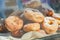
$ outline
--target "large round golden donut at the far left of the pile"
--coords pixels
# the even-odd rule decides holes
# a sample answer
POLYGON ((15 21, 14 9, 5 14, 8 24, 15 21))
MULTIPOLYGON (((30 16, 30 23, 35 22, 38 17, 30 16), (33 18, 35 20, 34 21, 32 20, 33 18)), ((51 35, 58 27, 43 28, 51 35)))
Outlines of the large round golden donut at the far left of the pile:
POLYGON ((5 20, 5 25, 9 31, 16 31, 22 28, 23 20, 18 18, 17 16, 9 16, 5 20))

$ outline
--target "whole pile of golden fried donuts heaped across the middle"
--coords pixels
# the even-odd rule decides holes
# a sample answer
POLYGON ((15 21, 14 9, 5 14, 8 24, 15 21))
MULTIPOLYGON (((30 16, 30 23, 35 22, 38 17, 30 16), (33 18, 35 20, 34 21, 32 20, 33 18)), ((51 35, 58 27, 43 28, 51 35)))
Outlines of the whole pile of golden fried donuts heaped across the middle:
POLYGON ((60 15, 58 14, 49 11, 47 14, 49 16, 44 16, 39 10, 32 8, 26 8, 22 14, 25 19, 18 16, 9 16, 5 19, 5 27, 14 37, 20 37, 31 31, 53 34, 59 29, 60 15), (24 24, 23 19, 30 22, 24 24))

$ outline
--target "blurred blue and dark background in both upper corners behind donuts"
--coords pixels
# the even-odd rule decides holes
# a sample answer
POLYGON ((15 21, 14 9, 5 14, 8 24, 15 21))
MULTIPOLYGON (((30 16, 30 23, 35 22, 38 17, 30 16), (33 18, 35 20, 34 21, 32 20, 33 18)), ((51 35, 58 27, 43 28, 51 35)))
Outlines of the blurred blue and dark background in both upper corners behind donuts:
MULTIPOLYGON (((6 18, 15 10, 23 9, 23 3, 30 0, 0 0, 0 17, 6 18)), ((60 12, 60 0, 40 0, 47 3, 55 12, 60 12)))

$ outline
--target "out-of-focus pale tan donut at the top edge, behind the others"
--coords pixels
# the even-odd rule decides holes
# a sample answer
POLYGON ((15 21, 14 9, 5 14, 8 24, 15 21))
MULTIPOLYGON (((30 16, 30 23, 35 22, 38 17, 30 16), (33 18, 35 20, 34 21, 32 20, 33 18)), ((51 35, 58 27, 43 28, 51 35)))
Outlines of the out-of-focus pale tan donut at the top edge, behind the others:
POLYGON ((37 8, 37 7, 41 6, 41 2, 39 0, 30 0, 24 4, 25 4, 25 7, 27 7, 27 8, 37 8))

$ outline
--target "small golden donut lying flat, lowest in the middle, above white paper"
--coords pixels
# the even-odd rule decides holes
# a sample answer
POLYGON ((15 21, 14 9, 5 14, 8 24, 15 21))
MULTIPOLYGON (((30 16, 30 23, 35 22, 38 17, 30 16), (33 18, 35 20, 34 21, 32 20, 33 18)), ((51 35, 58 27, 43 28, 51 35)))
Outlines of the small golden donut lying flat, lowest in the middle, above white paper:
POLYGON ((24 25, 23 30, 25 32, 30 32, 30 31, 37 31, 40 29, 40 24, 39 23, 29 23, 24 25))

